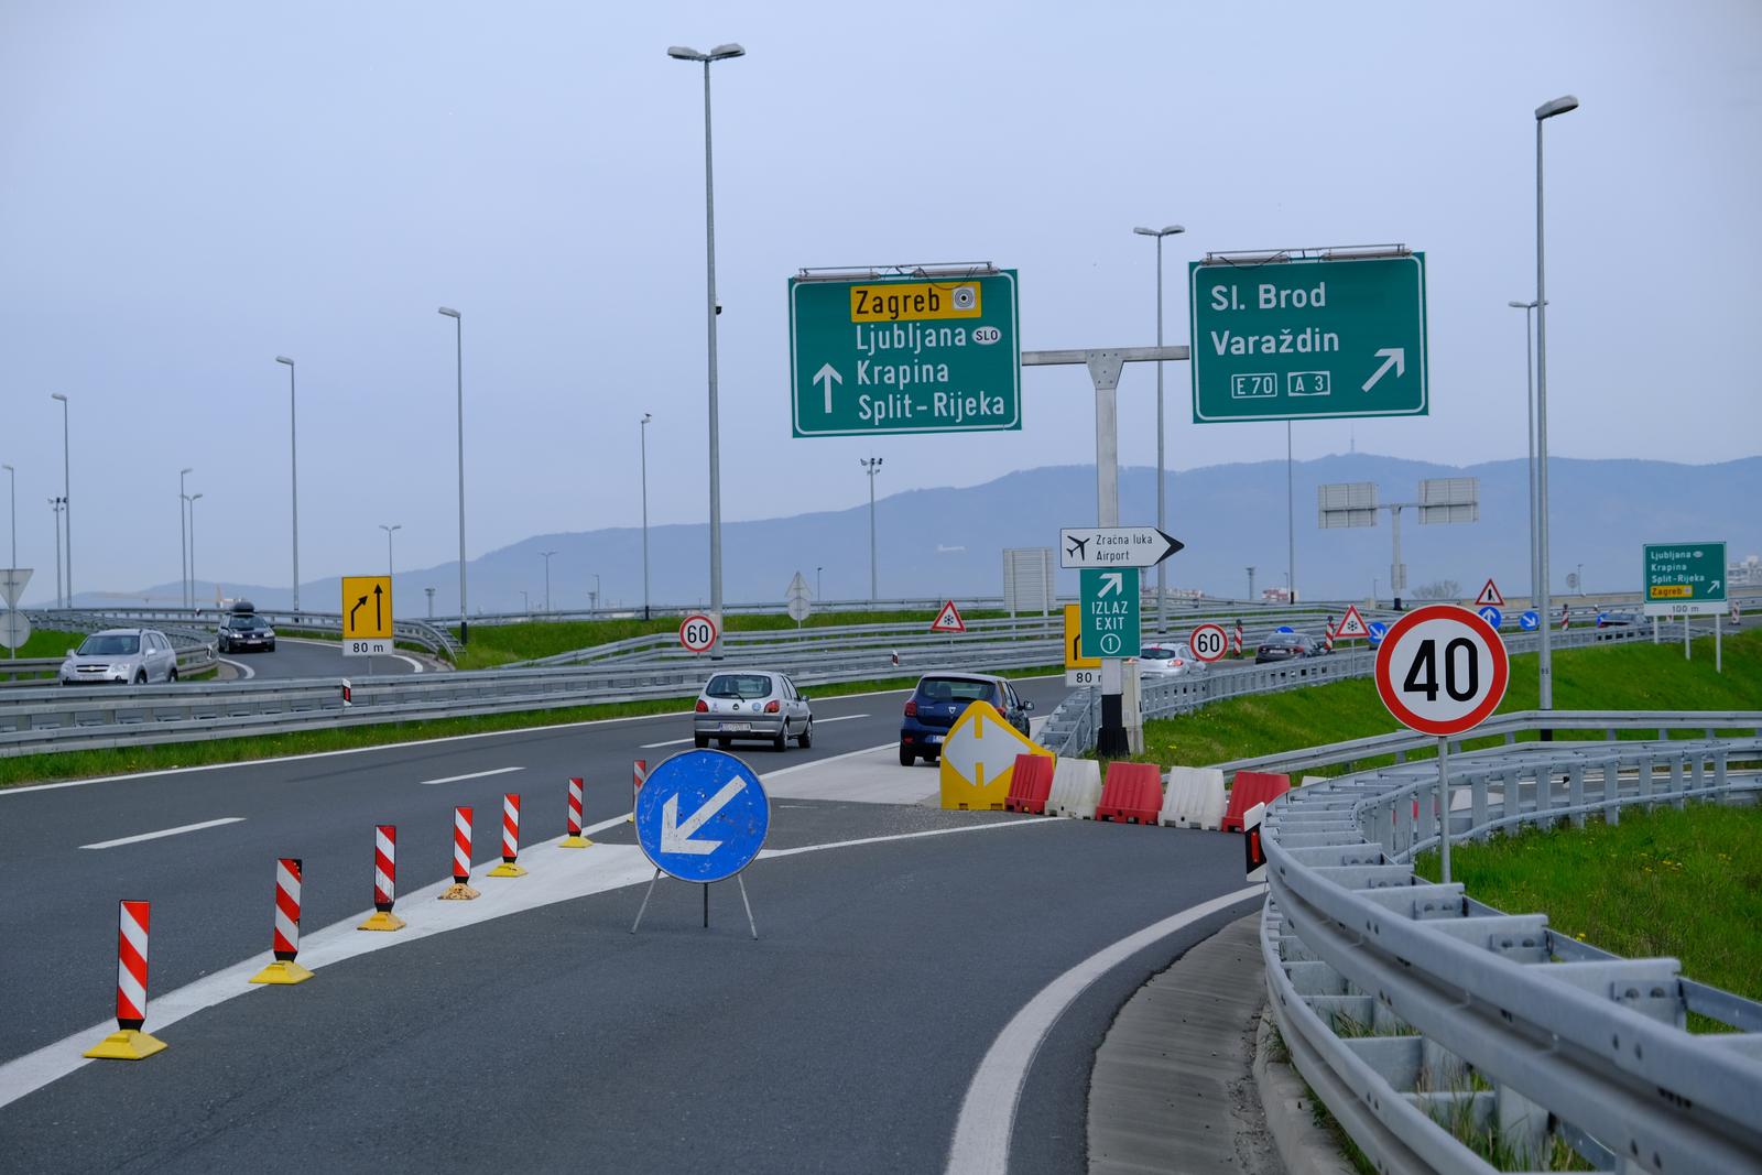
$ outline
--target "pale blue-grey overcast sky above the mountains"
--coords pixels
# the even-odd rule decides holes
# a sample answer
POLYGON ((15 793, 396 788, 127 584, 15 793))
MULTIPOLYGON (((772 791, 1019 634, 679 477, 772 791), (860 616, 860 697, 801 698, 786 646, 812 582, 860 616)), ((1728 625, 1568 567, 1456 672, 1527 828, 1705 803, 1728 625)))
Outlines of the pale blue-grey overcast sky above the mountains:
MULTIPOLYGON (((81 592, 707 516, 701 67, 714 69, 726 520, 1092 462, 1082 368, 1024 375, 1006 433, 793 440, 786 280, 803 266, 1020 271, 1024 349, 1188 340, 1207 250, 1427 254, 1429 418, 1307 423, 1297 454, 1524 453, 1535 122, 1547 125, 1552 451, 1758 451, 1762 5, 1658 4, 0 4, 0 462, 53 595, 70 398, 81 592), (749 7, 749 11, 737 11, 749 7)), ((1154 463, 1154 373, 1121 460, 1154 463)), ((1189 423, 1170 465, 1283 456, 1283 425, 1189 423)), ((1092 502, 1073 518, 1091 516, 1092 502)), ((1179 518, 1181 504, 1170 504, 1179 518)), ((1140 520, 1126 520, 1140 521, 1140 520)), ((1147 520, 1142 520, 1147 521, 1147 520)), ((1050 536, 1048 536, 1050 543, 1050 536)), ((0 558, 5 551, 0 548, 0 558)), ((48 585, 48 588, 46 588, 48 585)))

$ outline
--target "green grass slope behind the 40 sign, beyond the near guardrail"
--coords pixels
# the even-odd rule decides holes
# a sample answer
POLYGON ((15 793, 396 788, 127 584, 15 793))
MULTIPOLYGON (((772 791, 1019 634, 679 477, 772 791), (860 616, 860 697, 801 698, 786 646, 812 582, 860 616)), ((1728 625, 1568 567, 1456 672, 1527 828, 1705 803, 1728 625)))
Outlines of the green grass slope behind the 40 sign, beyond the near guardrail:
MULTIPOLYGON (((1336 657, 1346 654, 1334 654, 1336 657)), ((1359 654, 1364 655, 1362 652, 1359 654)), ((1512 680, 1499 712, 1535 710, 1536 655, 1512 657, 1512 680)), ((1610 645, 1554 654, 1556 710, 1757 710, 1762 708, 1762 629, 1725 639, 1725 673, 1713 671, 1713 641, 1610 645)), ((1144 763, 1205 766, 1279 750, 1297 750, 1399 729, 1369 678, 1283 694, 1232 698, 1177 719, 1144 724, 1144 763)), ((1693 731, 1699 735, 1699 731, 1693 731)), ((1646 736, 1646 735, 1635 735, 1646 736)), ((1656 735, 1651 735, 1656 736, 1656 735)), ((1498 742, 1498 740, 1489 740, 1498 742)), ((1477 743, 1470 742, 1470 747, 1477 743)), ((1425 752, 1410 752, 1422 757, 1425 752)), ((1392 759, 1383 759, 1392 761, 1392 759)), ((1357 770, 1376 766, 1366 759, 1357 770)), ((1346 766, 1322 772, 1343 773, 1346 766)))

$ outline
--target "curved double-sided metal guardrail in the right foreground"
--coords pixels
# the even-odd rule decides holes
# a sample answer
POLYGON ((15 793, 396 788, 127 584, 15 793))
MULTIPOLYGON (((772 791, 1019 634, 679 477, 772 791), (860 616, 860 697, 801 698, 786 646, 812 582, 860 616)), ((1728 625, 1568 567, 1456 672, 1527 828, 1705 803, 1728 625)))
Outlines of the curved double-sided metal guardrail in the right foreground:
MULTIPOLYGON (((1758 712, 1524 712, 1475 735, 1545 728, 1603 738, 1454 752, 1452 840, 1762 793, 1758 712), (1746 735, 1665 738, 1713 729, 1746 735)), ((1434 742, 1411 738, 1225 766, 1327 766, 1434 742)), ((1413 853, 1440 840, 1436 772, 1396 763, 1293 789, 1262 837, 1272 1009, 1353 1142, 1381 1171, 1494 1170, 1452 1124, 1496 1136, 1522 1170, 1559 1147, 1610 1171, 1762 1170, 1762 1002, 1683 978, 1672 958, 1619 958, 1545 914, 1415 877, 1413 853), (1688 1013, 1736 1031, 1690 1034, 1688 1013)))

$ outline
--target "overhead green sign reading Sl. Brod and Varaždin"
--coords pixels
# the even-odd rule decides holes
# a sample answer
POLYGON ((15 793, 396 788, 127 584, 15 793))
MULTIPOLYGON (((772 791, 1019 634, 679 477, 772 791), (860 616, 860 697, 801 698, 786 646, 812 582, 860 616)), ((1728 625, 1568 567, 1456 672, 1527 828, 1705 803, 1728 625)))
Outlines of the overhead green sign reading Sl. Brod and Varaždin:
POLYGON ((1424 416, 1425 254, 1195 261, 1193 423, 1424 416))

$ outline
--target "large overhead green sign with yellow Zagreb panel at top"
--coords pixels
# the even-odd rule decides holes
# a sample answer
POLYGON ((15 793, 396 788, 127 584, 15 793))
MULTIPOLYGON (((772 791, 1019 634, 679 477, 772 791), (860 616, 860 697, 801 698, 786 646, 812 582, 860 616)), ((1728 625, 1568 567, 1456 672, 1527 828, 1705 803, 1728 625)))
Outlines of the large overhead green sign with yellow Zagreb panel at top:
POLYGON ((1015 270, 789 278, 796 437, 1022 426, 1015 270))

